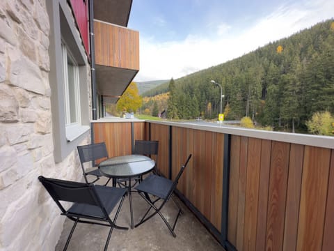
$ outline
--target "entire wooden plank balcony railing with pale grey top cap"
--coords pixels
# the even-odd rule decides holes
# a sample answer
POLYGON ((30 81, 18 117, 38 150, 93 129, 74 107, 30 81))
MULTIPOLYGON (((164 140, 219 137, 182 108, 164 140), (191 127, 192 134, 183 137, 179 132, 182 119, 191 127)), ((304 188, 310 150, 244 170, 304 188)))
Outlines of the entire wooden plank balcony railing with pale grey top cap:
POLYGON ((227 250, 333 250, 334 139, 181 123, 93 123, 109 154, 159 140, 158 169, 227 250))

